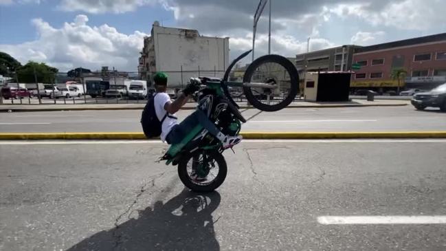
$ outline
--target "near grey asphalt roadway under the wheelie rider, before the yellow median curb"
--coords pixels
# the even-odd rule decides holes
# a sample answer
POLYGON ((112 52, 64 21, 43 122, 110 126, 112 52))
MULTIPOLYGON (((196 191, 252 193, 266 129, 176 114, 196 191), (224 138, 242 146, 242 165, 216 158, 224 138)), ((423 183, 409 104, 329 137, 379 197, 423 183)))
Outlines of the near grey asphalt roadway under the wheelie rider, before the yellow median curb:
POLYGON ((445 217, 446 140, 245 141, 205 195, 164 144, 91 143, 0 142, 0 250, 446 249, 446 221, 320 220, 445 217))

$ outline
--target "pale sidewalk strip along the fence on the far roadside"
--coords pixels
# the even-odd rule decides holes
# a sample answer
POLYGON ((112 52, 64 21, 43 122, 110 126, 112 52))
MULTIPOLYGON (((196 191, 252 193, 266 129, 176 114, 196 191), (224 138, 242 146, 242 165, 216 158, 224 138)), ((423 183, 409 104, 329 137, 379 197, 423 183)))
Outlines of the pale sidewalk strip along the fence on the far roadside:
MULTIPOLYGON (((246 102, 238 102, 240 109, 254 109, 246 102)), ((292 102, 287 108, 324 107, 392 107, 409 105, 408 100, 352 100, 351 102, 292 102)), ((82 111, 82 110, 140 110, 145 104, 78 104, 78 105, 0 105, 0 112, 8 111, 82 111)), ((197 103, 187 103, 182 109, 195 109, 197 103)))

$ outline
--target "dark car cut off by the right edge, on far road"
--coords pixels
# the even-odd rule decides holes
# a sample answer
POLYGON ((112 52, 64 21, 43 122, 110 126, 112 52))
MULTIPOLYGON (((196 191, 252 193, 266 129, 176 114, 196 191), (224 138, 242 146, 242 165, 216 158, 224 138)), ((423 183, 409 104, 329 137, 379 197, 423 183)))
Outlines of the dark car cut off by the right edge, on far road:
POLYGON ((441 111, 446 111, 446 83, 432 91, 415 94, 410 102, 418 110, 426 107, 440 107, 441 111))

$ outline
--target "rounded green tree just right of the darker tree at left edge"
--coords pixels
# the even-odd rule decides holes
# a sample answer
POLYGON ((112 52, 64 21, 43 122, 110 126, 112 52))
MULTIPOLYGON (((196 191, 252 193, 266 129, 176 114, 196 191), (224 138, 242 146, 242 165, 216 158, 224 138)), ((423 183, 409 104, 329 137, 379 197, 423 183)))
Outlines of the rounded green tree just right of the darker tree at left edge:
POLYGON ((45 63, 29 61, 17 70, 20 83, 36 83, 34 70, 38 83, 54 83, 58 69, 48 66, 45 63))

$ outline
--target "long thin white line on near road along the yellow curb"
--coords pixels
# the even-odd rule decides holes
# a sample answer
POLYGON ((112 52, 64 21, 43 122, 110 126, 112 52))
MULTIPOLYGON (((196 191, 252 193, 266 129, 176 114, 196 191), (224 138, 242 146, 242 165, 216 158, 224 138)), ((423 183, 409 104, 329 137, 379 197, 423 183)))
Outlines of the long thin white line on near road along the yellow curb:
MULTIPOLYGON (((242 143, 446 143, 446 139, 414 140, 243 140, 242 143)), ((168 144, 161 140, 0 140, 0 145, 24 144, 168 144)))

